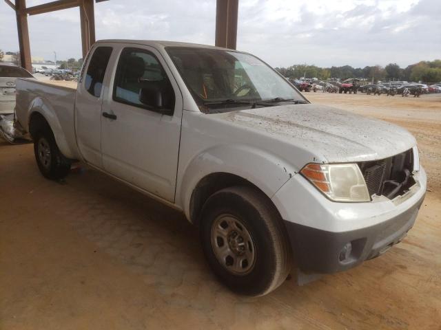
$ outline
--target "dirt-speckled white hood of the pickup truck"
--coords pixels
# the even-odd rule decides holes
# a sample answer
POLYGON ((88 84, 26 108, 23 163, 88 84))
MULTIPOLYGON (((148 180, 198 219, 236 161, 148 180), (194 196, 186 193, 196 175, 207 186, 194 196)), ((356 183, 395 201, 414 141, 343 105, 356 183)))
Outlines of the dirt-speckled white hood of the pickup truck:
POLYGON ((383 159, 416 144, 411 133, 400 126, 317 104, 263 107, 216 116, 297 146, 322 162, 383 159))

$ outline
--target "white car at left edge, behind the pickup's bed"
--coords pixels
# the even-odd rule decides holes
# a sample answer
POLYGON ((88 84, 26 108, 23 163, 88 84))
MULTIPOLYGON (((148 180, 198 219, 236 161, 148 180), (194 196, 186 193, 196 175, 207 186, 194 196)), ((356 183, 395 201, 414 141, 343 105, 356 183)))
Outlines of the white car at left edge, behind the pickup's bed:
POLYGON ((14 113, 15 80, 33 77, 22 67, 0 63, 0 114, 14 113))

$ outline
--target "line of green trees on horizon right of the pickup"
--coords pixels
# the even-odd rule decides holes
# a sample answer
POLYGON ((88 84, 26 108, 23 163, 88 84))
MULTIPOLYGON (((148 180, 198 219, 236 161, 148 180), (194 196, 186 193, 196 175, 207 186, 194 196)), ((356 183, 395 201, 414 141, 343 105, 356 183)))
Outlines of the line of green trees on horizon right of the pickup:
POLYGON ((438 83, 441 81, 441 60, 421 61, 416 64, 408 65, 405 68, 396 63, 389 63, 385 67, 381 65, 366 67, 317 67, 316 65, 291 65, 291 67, 276 67, 276 70, 287 78, 365 78, 367 80, 406 80, 424 81, 427 83, 438 83))

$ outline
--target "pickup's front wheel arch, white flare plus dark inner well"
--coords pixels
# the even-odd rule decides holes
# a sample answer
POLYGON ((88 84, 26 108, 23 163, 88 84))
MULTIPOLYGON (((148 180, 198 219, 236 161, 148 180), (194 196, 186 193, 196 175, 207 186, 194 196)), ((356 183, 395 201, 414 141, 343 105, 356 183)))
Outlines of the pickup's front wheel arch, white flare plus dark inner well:
POLYGON ((271 199, 293 175, 294 166, 274 153, 245 144, 213 146, 178 171, 175 200, 187 219, 197 223, 197 210, 210 192, 244 185, 257 188, 271 199))

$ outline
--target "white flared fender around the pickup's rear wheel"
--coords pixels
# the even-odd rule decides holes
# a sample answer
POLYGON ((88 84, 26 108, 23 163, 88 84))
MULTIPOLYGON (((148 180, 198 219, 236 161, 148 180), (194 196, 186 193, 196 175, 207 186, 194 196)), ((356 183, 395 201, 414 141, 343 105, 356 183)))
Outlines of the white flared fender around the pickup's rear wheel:
POLYGON ((29 118, 28 118, 28 131, 30 125, 30 118, 34 113, 40 113, 43 118, 48 122, 50 129, 54 133, 55 142, 57 142, 57 146, 59 147, 61 153, 70 159, 78 159, 79 155, 75 152, 76 148, 72 148, 66 139, 65 133, 61 124, 59 122, 59 118, 57 117, 52 105, 48 100, 45 100, 43 97, 38 96, 34 98, 32 102, 29 104, 29 118))

